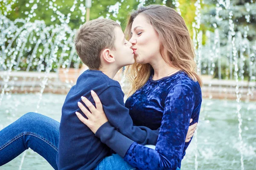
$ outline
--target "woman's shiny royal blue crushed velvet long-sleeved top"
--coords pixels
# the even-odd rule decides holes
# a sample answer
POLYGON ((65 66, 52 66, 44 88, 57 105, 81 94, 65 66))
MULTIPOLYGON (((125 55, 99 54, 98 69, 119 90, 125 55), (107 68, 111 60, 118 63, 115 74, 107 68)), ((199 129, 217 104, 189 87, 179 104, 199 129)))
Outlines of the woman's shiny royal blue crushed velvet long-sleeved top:
POLYGON ((156 149, 144 147, 123 136, 107 122, 96 132, 102 142, 141 170, 176 170, 190 142, 185 143, 190 118, 198 122, 202 95, 198 82, 179 71, 146 84, 130 96, 125 106, 137 126, 160 127, 156 149), (120 140, 111 141, 112 136, 120 140), (131 144, 128 150, 122 144, 131 144), (116 147, 119 146, 119 147, 116 147), (125 154, 123 154, 125 153, 125 154))

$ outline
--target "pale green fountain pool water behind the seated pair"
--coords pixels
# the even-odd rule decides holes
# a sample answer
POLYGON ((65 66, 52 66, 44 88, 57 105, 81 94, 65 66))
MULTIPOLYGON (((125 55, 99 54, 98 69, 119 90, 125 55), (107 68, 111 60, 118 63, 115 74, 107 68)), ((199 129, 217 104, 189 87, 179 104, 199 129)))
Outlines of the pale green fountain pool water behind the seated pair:
MULTIPOLYGON (((57 121, 65 95, 43 94, 38 113, 57 121)), ((5 96, 0 106, 0 130, 27 112, 37 110, 38 95, 12 94, 5 96)), ((256 102, 241 102, 242 141, 239 144, 236 101, 203 99, 197 135, 192 140, 181 163, 183 170, 239 170, 242 148, 244 169, 256 168, 256 102), (196 142, 197 141, 197 142, 196 142), (198 167, 197 167, 198 165, 198 167)), ((18 170, 23 154, 0 170, 18 170)), ((29 149, 22 170, 52 170, 53 168, 37 153, 29 149)))

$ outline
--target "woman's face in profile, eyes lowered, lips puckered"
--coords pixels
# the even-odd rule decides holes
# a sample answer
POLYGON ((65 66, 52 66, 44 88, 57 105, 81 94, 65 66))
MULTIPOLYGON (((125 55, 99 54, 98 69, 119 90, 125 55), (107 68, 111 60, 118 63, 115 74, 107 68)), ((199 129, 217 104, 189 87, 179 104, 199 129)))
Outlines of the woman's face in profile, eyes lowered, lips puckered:
POLYGON ((139 14, 131 27, 131 39, 134 57, 140 64, 152 63, 160 54, 160 40, 153 26, 143 14, 139 14))

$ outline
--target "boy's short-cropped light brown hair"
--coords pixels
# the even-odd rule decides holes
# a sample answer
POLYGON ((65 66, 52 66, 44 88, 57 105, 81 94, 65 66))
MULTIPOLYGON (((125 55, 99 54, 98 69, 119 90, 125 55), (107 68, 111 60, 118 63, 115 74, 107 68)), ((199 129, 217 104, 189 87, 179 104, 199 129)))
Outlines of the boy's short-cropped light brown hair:
POLYGON ((105 48, 115 48, 114 28, 120 27, 110 19, 96 19, 84 23, 76 33, 76 52, 81 61, 91 70, 98 70, 100 53, 105 48))

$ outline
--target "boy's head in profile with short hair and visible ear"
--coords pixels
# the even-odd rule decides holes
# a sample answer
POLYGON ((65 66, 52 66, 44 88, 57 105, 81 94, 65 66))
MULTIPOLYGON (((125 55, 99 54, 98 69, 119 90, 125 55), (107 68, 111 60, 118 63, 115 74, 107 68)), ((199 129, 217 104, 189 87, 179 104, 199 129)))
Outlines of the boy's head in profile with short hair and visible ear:
POLYGON ((134 63, 131 43, 113 20, 96 19, 83 24, 76 33, 75 46, 81 61, 92 70, 104 64, 121 68, 134 63))

